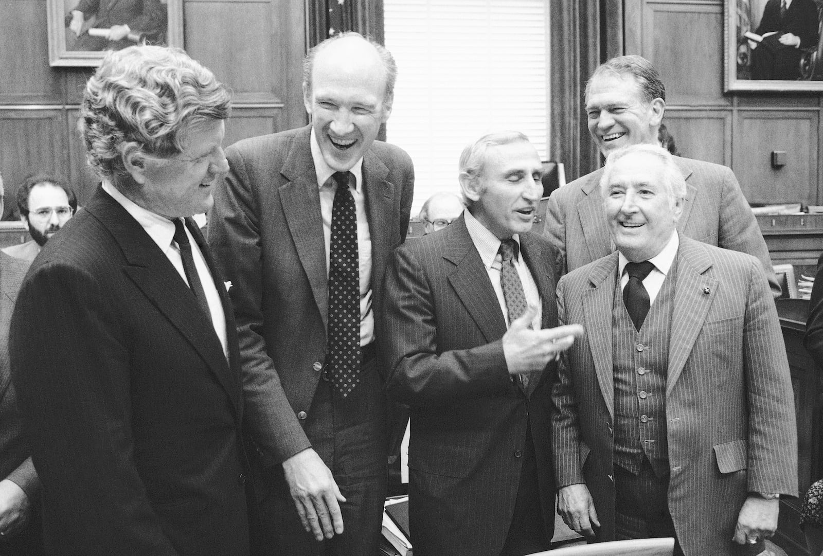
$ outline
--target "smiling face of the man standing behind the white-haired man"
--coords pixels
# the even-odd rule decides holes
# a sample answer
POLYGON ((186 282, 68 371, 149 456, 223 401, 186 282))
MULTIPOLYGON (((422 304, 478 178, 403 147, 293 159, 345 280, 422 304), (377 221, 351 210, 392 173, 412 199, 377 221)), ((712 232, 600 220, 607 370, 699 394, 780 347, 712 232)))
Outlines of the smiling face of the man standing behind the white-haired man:
POLYGON ((657 145, 664 109, 662 99, 644 100, 634 76, 603 73, 588 89, 588 132, 605 157, 621 146, 657 145))

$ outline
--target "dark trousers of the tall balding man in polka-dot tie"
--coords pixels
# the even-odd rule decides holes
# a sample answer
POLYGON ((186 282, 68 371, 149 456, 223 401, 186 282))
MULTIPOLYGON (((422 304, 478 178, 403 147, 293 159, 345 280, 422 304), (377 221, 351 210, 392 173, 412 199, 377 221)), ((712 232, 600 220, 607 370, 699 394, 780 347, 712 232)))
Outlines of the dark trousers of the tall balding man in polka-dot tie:
POLYGON ((346 498, 342 535, 314 540, 300 524, 282 466, 269 470, 269 493, 260 503, 266 556, 373 556, 379 554, 388 476, 386 403, 375 359, 360 369, 360 382, 346 396, 321 380, 305 422, 312 447, 332 470, 346 498))

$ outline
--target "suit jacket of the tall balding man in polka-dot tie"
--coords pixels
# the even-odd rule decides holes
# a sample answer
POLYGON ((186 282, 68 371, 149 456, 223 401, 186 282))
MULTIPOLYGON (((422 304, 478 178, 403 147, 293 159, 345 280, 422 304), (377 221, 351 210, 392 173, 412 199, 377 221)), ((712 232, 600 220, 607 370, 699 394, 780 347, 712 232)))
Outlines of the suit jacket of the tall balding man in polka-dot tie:
MULTIPOLYGON (((234 285, 246 406, 260 425, 255 439, 268 465, 309 447, 296 415, 309 411, 326 359, 328 273, 310 132, 292 129, 226 149, 230 172, 209 219, 209 244, 234 285)), ((365 153, 363 177, 376 317, 388 254, 406 238, 412 160, 375 141, 365 153)))

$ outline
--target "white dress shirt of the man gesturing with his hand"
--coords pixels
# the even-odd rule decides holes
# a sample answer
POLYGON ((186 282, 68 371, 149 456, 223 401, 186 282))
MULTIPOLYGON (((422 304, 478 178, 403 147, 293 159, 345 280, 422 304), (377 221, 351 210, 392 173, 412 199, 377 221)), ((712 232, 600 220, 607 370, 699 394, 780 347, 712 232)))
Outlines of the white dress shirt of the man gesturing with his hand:
MULTIPOLYGON (((503 317, 506 322, 506 329, 509 329, 509 308, 506 307, 506 299, 503 296, 503 285, 500 284, 500 269, 503 267, 503 259, 500 257, 500 239, 495 234, 492 234, 484 225, 477 221, 472 216, 472 213, 467 210, 463 211, 466 215, 466 229, 472 238, 474 247, 477 248, 477 253, 480 253, 480 258, 483 261, 483 266, 486 266, 486 272, 491 280, 491 285, 495 289, 497 295, 497 303, 500 303, 500 309, 503 311, 503 317)), ((514 234, 512 239, 520 245, 520 236, 514 234)), ((523 252, 518 249, 518 257, 514 259, 514 268, 517 269, 518 276, 520 276, 520 283, 523 284, 523 294, 526 295, 526 303, 537 308, 537 313, 532 319, 532 328, 540 330, 542 324, 543 306, 540 300, 540 290, 537 290, 537 284, 532 278, 532 272, 528 270, 528 265, 523 260, 523 252)))

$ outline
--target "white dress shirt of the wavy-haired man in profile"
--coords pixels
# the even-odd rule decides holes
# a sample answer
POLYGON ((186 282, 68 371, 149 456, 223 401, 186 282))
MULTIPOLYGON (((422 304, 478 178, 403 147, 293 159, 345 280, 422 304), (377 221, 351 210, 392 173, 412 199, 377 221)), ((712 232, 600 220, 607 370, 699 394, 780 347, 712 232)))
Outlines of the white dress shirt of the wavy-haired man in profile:
MULTIPOLYGON (((174 222, 165 216, 160 216, 154 212, 146 211, 146 209, 142 206, 138 206, 133 201, 128 199, 128 197, 125 197, 123 193, 119 192, 118 189, 109 183, 108 180, 103 180, 103 190, 109 193, 109 195, 114 198, 114 201, 119 202, 119 204, 126 209, 126 212, 132 215, 134 220, 137 220, 137 224, 141 225, 142 229, 146 230, 146 234, 149 234, 149 237, 157 243, 157 247, 159 247, 160 251, 168 257, 175 270, 177 270, 180 277, 183 278, 185 284, 188 285, 188 280, 186 280, 186 271, 183 268, 183 259, 180 257, 180 250, 177 243, 174 243, 174 240, 172 239, 174 237, 174 222)), ((186 229, 186 235, 188 235, 189 243, 192 244, 194 266, 198 270, 198 276, 200 276, 203 291, 206 293, 208 308, 212 313, 212 327, 214 327, 214 331, 223 346, 223 354, 225 354, 226 358, 228 358, 229 344, 226 339, 226 313, 223 311, 223 303, 220 301, 220 294, 217 293, 216 284, 212 278, 212 272, 208 270, 206 259, 203 258, 203 255, 200 252, 200 247, 197 242, 194 241, 194 238, 188 229, 186 229)))

